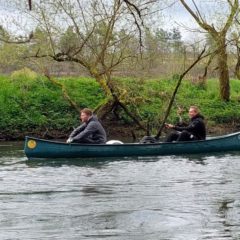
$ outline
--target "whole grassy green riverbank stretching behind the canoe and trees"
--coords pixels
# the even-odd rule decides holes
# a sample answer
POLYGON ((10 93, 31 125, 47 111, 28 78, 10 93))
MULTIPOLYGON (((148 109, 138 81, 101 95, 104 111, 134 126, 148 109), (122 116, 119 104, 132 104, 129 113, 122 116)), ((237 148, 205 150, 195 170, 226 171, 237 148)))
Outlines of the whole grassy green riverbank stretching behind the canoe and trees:
MULTIPOLYGON (((106 99, 99 85, 91 78, 61 78, 68 95, 79 108, 95 108, 106 99)), ((144 124, 157 131, 176 79, 115 79, 114 86, 121 100, 144 124)), ((18 72, 0 77, 0 138, 21 139, 26 134, 43 137, 65 137, 72 127, 79 124, 78 114, 63 97, 59 86, 35 73, 18 72)), ((183 81, 168 122, 176 122, 178 106, 186 110, 189 105, 198 105, 206 116, 208 128, 213 126, 233 127, 240 125, 240 81, 231 80, 231 101, 219 99, 218 81, 209 79, 206 85, 183 81)), ((121 114, 121 113, 120 113, 121 114)), ((108 122, 109 123, 109 122, 108 122)), ((108 123, 103 123, 108 127, 108 123)), ((118 123, 132 125, 127 116, 118 123)), ((117 124, 117 125, 116 125, 117 124)))

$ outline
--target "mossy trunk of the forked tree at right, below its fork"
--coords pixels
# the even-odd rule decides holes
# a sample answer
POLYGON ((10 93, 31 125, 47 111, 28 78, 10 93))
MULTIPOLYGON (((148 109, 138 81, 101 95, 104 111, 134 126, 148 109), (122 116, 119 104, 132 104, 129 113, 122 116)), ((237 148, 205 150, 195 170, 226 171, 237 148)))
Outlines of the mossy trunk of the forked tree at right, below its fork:
POLYGON ((219 85, 220 85, 220 97, 224 101, 229 101, 230 98, 230 84, 229 84, 229 71, 227 64, 227 49, 224 41, 219 44, 219 51, 217 55, 218 69, 219 69, 219 85))

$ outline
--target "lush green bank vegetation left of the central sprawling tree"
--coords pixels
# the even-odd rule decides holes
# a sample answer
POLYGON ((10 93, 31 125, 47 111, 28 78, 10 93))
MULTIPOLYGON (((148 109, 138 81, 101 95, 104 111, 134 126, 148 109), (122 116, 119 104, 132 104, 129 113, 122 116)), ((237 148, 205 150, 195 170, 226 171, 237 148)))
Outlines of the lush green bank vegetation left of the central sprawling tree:
MULTIPOLYGON (((79 104, 86 96, 80 107, 96 107, 102 100, 99 86, 96 86, 92 79, 74 80, 60 79, 59 81, 72 86, 68 90, 76 97, 79 104), (79 88, 82 84, 85 84, 86 88, 79 88)), ((63 98, 61 88, 35 75, 34 72, 21 70, 12 74, 11 78, 0 77, 0 83, 2 131, 14 133, 15 130, 67 130, 79 124, 78 113, 63 98)))

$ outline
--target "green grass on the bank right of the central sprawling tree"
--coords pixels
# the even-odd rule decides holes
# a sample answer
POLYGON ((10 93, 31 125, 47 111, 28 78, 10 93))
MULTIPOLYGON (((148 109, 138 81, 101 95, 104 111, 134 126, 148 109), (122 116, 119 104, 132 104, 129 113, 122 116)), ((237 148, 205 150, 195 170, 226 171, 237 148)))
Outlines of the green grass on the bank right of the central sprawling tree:
MULTIPOLYGON (((150 127, 156 131, 164 117, 177 80, 177 76, 169 80, 152 79, 145 80, 142 83, 136 79, 121 79, 121 84, 122 88, 126 90, 125 97, 129 99, 129 109, 138 113, 140 118, 145 123, 149 122, 150 127), (142 101, 136 104, 134 101, 136 98, 141 98, 142 101)), ((240 81, 231 80, 230 83, 232 100, 224 102, 219 98, 218 81, 216 79, 209 79, 204 88, 184 80, 177 93, 168 121, 178 122, 177 109, 179 106, 184 108, 185 112, 182 117, 187 121, 189 106, 197 105, 205 116, 209 127, 216 124, 239 124, 240 81)))

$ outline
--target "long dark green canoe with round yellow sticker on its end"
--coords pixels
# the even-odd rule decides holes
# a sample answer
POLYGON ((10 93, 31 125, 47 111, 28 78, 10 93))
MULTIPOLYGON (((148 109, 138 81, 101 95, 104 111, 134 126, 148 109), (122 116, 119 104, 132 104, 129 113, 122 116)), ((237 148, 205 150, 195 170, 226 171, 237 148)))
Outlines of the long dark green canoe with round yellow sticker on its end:
POLYGON ((240 151, 240 132, 207 140, 173 143, 77 144, 25 138, 28 159, 161 156, 240 151))

